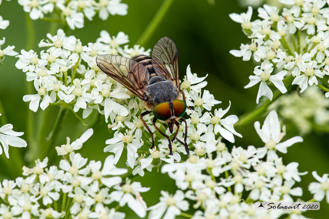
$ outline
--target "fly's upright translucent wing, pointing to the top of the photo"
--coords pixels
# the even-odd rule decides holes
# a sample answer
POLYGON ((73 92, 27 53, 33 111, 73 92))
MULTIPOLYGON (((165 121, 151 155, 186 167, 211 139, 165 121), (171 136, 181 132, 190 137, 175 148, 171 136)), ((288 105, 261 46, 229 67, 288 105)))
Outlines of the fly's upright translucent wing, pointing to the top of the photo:
POLYGON ((152 51, 152 66, 158 76, 172 81, 178 88, 178 52, 174 41, 169 37, 161 38, 152 51))

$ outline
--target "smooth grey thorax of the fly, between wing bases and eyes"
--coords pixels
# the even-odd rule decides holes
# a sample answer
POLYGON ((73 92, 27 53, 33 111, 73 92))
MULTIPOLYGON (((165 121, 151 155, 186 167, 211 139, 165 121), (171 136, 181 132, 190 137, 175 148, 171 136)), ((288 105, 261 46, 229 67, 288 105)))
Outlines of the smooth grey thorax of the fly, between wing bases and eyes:
POLYGON ((178 93, 176 87, 170 81, 159 81, 147 86, 149 101, 155 106, 177 99, 178 93))

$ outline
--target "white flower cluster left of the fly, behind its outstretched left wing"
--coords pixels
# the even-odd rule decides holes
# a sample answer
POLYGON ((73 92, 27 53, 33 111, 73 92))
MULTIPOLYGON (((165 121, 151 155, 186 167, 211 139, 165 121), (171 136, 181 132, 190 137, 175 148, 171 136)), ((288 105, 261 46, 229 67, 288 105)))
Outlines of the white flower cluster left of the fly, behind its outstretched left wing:
POLYGON ((30 102, 32 111, 36 112, 39 106, 44 110, 54 104, 74 112, 83 109, 83 118, 87 118, 95 109, 105 115, 106 121, 110 117, 112 123, 116 116, 128 115, 130 105, 134 104, 130 101, 132 93, 98 68, 96 56, 120 54, 132 57, 149 55, 150 50, 145 51, 139 45, 122 47, 129 42, 123 32, 111 37, 108 32, 101 31, 96 42, 87 46, 75 36, 66 36, 62 29, 57 35, 47 34, 47 37, 49 39, 38 44, 40 48, 46 48, 40 55, 33 50, 21 50, 17 56, 16 67, 26 73, 26 80, 33 81, 37 91, 37 94, 23 97, 24 101, 30 102))

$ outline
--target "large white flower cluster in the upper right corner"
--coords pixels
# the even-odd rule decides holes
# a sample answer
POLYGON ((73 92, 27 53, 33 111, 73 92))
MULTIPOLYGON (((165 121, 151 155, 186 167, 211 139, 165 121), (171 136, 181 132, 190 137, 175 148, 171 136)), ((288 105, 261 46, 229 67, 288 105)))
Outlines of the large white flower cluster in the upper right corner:
POLYGON ((324 83, 322 78, 329 75, 329 8, 326 1, 279 2, 291 8, 283 8, 279 13, 278 8, 264 5, 257 9, 261 19, 254 21, 251 21, 251 7, 246 13, 230 14, 251 39, 250 44, 241 44, 240 50, 231 50, 230 53, 244 61, 252 56, 256 62, 261 62, 245 86, 249 88, 260 82, 257 103, 262 96, 272 100, 271 85, 281 93, 290 90, 291 85, 298 85, 302 93, 314 84, 329 91, 328 84, 321 85, 324 83))

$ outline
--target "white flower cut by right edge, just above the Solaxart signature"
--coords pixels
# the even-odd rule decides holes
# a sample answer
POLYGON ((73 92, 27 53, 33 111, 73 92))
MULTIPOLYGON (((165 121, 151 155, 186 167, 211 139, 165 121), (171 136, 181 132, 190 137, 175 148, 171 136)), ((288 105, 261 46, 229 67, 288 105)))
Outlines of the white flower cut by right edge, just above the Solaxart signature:
POLYGON ((326 201, 329 204, 329 174, 326 173, 320 177, 316 171, 313 171, 312 175, 318 181, 318 183, 310 183, 308 187, 311 194, 314 194, 314 200, 320 202, 323 200, 324 196, 326 196, 326 201))

